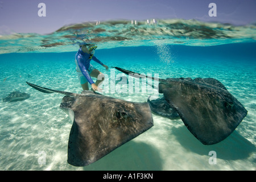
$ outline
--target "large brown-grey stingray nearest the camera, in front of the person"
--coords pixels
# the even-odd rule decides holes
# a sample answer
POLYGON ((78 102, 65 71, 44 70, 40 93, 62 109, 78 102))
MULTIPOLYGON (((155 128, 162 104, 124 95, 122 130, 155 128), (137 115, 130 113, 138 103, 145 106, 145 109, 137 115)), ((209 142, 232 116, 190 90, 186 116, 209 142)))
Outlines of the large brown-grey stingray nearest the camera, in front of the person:
POLYGON ((149 105, 103 96, 51 90, 27 82, 44 93, 65 94, 60 108, 73 125, 68 141, 68 163, 87 166, 153 126, 149 105))

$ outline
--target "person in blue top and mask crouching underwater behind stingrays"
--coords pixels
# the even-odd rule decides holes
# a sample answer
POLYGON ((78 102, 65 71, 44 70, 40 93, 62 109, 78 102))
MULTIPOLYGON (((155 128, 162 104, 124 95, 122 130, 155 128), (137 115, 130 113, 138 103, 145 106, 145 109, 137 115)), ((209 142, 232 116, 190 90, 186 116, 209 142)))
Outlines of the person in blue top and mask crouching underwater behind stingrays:
POLYGON ((94 91, 101 91, 101 89, 98 88, 98 85, 102 81, 104 81, 104 74, 98 71, 98 69, 94 68, 93 65, 90 64, 90 60, 94 60, 96 61, 96 63, 101 64, 103 67, 106 68, 107 71, 109 69, 107 65, 101 63, 101 61, 94 56, 96 48, 97 46, 95 44, 84 43, 80 44, 80 48, 76 53, 76 72, 77 76, 79 77, 82 89, 84 90, 89 90, 89 82, 89 84, 92 85, 92 89, 94 91), (95 83, 93 82, 92 77, 97 78, 97 81, 95 83))

